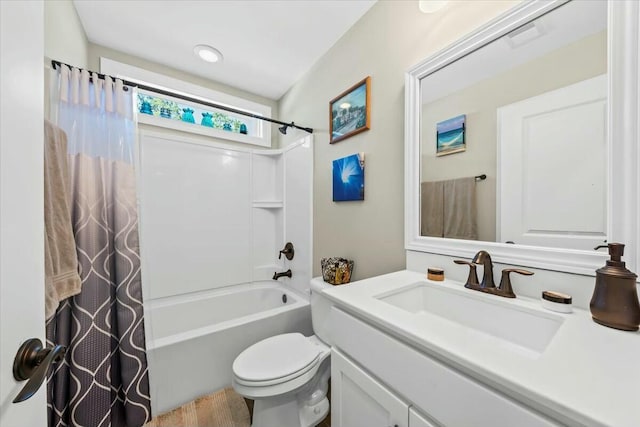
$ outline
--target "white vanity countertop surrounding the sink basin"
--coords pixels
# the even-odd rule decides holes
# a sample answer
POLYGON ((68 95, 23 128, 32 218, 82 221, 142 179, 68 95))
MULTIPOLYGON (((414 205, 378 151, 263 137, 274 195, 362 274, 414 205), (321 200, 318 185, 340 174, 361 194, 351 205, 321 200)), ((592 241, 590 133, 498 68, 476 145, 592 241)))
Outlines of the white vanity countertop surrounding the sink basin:
POLYGON ((555 313, 534 299, 509 300, 454 281, 428 281, 424 274, 408 270, 338 286, 325 294, 346 311, 542 413, 560 420, 568 417, 576 425, 640 426, 640 333, 598 325, 588 311, 555 313), (463 324, 430 313, 416 315, 376 298, 416 282, 558 316, 562 325, 541 353, 517 351, 517 346, 503 345, 463 324))

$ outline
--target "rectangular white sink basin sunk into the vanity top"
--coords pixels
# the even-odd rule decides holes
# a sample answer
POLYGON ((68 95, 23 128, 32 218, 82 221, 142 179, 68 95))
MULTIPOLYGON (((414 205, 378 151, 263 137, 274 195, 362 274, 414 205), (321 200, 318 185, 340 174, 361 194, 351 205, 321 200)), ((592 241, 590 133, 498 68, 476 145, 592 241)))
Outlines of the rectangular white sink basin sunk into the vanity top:
POLYGON ((476 293, 464 288, 454 290, 417 282, 375 298, 416 316, 444 318, 525 347, 538 355, 544 352, 562 325, 561 316, 493 301, 500 297, 476 293))

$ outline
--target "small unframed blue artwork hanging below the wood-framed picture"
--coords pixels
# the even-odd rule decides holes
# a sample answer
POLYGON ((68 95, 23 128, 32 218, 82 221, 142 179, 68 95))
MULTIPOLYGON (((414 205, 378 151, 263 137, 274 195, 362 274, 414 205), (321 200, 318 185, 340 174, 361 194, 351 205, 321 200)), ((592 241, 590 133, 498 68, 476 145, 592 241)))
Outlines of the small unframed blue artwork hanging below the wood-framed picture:
POLYGON ((333 201, 364 200, 364 153, 333 161, 333 201))

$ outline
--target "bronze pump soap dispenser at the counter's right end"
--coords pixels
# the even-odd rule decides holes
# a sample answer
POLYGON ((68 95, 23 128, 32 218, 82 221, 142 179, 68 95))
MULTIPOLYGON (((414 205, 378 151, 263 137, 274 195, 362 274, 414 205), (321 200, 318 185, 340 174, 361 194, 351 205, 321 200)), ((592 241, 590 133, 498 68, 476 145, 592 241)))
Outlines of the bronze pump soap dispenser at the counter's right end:
POLYGON ((640 325, 640 303, 636 274, 627 270, 622 261, 624 244, 609 243, 595 249, 609 248, 611 259, 596 270, 596 287, 591 297, 593 320, 610 328, 637 331, 640 325))

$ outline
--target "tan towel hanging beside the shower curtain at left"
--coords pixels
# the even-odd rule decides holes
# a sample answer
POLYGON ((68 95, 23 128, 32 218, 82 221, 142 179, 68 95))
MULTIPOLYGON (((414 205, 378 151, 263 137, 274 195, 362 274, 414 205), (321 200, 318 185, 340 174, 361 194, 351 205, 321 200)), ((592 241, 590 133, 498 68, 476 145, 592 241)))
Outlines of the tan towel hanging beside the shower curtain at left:
POLYGON ((67 135, 44 123, 44 270, 45 315, 53 316, 60 301, 80 293, 76 242, 69 207, 67 135))

